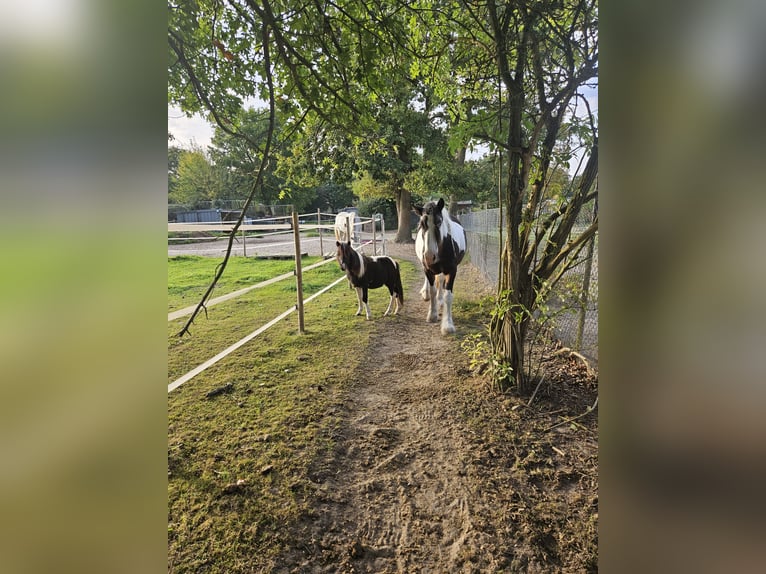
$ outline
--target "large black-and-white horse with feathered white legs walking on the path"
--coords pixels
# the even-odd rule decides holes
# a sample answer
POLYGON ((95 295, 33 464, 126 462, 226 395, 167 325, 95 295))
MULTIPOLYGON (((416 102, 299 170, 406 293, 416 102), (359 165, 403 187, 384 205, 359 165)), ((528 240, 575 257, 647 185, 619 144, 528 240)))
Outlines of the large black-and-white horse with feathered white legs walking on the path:
POLYGON ((426 320, 436 323, 439 320, 437 312, 438 304, 442 308, 442 335, 455 332, 455 324, 452 322, 452 286, 455 284, 457 266, 465 255, 465 230, 463 226, 453 218, 444 206, 444 199, 438 202, 429 201, 423 207, 413 207, 413 211, 420 216, 418 232, 415 237, 415 254, 423 264, 426 280, 420 294, 425 301, 430 301, 426 320), (436 276, 442 274, 442 285, 439 285, 439 294, 434 286, 436 276))

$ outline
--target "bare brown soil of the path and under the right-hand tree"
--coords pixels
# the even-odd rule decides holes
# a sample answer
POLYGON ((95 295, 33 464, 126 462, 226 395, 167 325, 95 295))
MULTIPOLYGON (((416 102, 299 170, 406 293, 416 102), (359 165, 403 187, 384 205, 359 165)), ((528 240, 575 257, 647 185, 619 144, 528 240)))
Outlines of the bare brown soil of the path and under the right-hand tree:
MULTIPOLYGON (((414 249, 391 242, 389 255, 414 249)), ((567 422, 594 404, 596 378, 553 347, 530 407, 492 391, 460 350, 477 325, 456 306, 458 333, 440 335, 421 282, 405 285, 412 320, 378 322, 336 397, 335 450, 314 465, 310 510, 273 571, 596 571, 598 411, 567 422)), ((457 304, 490 289, 464 265, 455 291, 457 304)))

